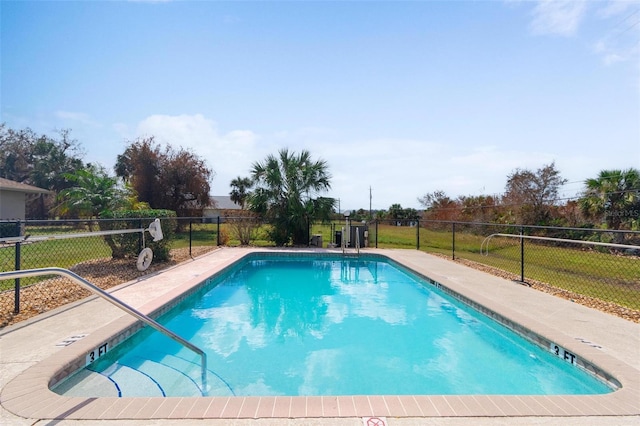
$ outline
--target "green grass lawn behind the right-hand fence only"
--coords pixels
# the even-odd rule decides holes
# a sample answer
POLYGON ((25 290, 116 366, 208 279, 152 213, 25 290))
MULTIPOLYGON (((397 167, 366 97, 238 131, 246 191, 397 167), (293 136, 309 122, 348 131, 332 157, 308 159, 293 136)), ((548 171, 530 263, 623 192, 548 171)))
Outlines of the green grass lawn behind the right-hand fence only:
MULTIPOLYGON (((420 250, 452 256, 452 232, 420 229, 420 250)), ((456 232, 455 257, 520 276, 520 240, 494 237, 480 253, 484 235, 456 232)), ((378 247, 415 248, 415 228, 378 226, 378 247)), ((585 296, 640 310, 640 260, 595 250, 526 240, 524 277, 585 296)))

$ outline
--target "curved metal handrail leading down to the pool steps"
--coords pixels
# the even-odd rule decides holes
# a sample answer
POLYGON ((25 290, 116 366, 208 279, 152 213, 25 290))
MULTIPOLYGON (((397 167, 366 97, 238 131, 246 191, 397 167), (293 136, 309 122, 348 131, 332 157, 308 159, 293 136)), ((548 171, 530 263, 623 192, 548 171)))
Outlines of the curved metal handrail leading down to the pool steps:
POLYGON ((106 301, 117 306, 118 308, 122 309, 128 314, 133 315, 135 318, 147 324, 148 326, 153 327, 154 329, 164 334, 165 336, 175 340, 176 342, 182 344, 186 348, 200 355, 200 367, 202 369, 202 373, 201 373, 202 389, 204 392, 207 391, 207 354, 202 349, 200 349, 193 343, 189 342, 188 340, 185 340, 182 337, 178 336, 173 331, 167 329, 157 321, 143 314, 142 312, 127 305, 122 300, 117 299, 116 297, 112 296, 111 294, 107 293, 106 291, 102 290, 96 285, 85 280, 80 275, 68 269, 49 267, 49 268, 39 268, 39 269, 23 269, 20 271, 0 272, 0 281, 8 280, 11 278, 35 277, 35 276, 42 276, 42 275, 60 275, 60 276, 71 279, 72 281, 76 282, 77 284, 80 284, 82 287, 86 288, 87 290, 97 294, 98 296, 102 297, 106 301))

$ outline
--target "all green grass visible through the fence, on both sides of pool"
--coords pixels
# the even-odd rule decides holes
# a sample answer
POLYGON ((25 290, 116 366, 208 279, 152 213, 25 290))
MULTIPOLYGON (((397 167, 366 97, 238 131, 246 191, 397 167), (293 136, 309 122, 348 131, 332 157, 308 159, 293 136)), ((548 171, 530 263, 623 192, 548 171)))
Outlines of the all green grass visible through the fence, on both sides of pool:
MULTIPOLYGON (((238 246, 232 224, 222 224, 221 242, 228 246, 238 246)), ((334 239, 334 232, 340 231, 344 223, 315 224, 311 234, 322 235, 326 246, 334 239)), ((267 227, 255 230, 252 245, 272 246, 267 240, 267 227)), ((61 234, 60 228, 37 229, 37 234, 61 234), (48 231, 48 232, 45 232, 48 231)), ((69 232, 79 232, 69 228, 69 232)), ((84 231, 84 230, 81 230, 84 231)), ((435 231, 425 228, 392 226, 379 224, 369 229, 369 244, 379 248, 415 249, 417 233, 420 250, 452 256, 453 234, 451 231, 435 231), (376 235, 377 234, 377 235, 376 235)), ((171 248, 217 245, 217 225, 195 223, 189 229, 175 234, 171 248)), ((455 257, 499 268, 520 276, 520 242, 514 238, 494 237, 488 255, 480 253, 485 235, 456 232, 455 257)), ((525 241, 525 280, 536 280, 554 287, 570 290, 586 296, 613 302, 631 309, 640 310, 640 261, 629 256, 618 256, 593 250, 541 245, 525 241)), ((84 237, 65 240, 49 240, 24 243, 21 249, 21 269, 58 266, 70 268, 91 259, 111 256, 111 251, 102 237, 84 237)), ((14 246, 0 247, 0 270, 15 269, 14 246)), ((0 290, 12 288, 13 281, 0 281, 0 290)))

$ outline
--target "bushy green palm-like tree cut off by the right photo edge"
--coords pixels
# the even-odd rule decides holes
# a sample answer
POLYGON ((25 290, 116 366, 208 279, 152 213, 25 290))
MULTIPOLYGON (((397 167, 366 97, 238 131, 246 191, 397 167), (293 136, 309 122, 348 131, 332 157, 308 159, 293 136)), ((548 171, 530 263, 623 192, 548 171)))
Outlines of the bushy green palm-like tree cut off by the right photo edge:
POLYGON ((580 208, 586 217, 604 221, 608 229, 640 225, 640 170, 602 170, 587 179, 580 208))

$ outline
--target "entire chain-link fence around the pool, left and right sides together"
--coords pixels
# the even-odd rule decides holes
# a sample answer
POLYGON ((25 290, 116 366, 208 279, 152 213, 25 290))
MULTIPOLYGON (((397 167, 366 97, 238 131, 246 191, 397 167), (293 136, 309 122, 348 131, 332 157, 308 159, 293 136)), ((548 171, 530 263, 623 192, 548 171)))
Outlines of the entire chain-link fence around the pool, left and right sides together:
MULTIPOLYGON (((272 245, 268 225, 255 217, 171 221, 170 256, 144 271, 136 256, 152 244, 142 232, 150 219, 0 222, 0 271, 62 267, 107 289, 218 246, 272 245), (105 230, 134 231, 97 234, 105 230), (124 239, 130 254, 114 256, 114 241, 124 239)), ((340 247, 346 225, 310 224, 310 245, 340 247)), ((640 232, 417 220, 350 225, 366 230, 363 248, 423 250, 640 322, 640 232)), ((57 276, 0 281, 0 328, 87 295, 57 276)))

